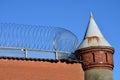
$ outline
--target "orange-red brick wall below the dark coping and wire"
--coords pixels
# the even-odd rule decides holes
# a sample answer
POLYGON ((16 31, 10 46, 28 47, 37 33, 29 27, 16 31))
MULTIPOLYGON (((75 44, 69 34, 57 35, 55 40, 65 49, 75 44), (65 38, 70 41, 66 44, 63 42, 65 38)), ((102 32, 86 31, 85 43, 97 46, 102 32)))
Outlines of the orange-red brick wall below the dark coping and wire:
POLYGON ((84 80, 79 63, 0 59, 0 80, 84 80))

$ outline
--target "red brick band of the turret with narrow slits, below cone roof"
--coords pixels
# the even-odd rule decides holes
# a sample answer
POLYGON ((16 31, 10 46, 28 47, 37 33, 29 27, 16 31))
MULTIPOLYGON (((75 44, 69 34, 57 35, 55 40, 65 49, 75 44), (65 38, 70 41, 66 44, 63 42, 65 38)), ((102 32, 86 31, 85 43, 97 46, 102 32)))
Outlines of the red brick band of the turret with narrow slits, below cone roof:
POLYGON ((114 49, 106 46, 92 46, 76 51, 76 57, 83 60, 83 69, 103 68, 112 70, 114 49))

